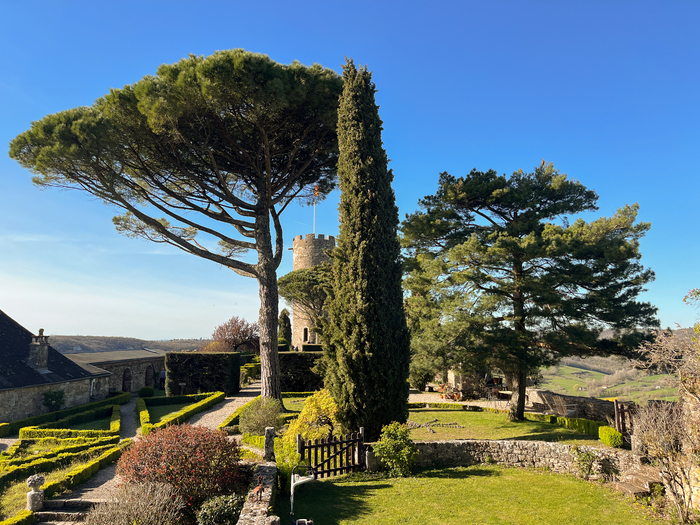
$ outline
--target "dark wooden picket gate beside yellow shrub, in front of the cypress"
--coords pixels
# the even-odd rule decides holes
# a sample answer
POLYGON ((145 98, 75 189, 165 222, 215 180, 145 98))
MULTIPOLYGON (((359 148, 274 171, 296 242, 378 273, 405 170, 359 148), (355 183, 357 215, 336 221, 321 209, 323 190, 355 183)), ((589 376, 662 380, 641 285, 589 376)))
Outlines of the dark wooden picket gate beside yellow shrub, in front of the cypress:
POLYGON ((325 478, 357 472, 365 467, 365 430, 347 434, 345 437, 333 436, 328 439, 305 441, 297 434, 297 452, 302 462, 309 461, 316 477, 325 478))

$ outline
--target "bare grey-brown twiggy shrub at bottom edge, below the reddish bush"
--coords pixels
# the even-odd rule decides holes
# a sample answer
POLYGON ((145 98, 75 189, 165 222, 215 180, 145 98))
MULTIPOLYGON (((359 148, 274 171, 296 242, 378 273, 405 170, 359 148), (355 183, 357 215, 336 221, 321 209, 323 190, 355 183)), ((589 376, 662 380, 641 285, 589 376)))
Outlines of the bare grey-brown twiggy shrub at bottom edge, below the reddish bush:
POLYGON ((164 483, 127 483, 111 501, 93 507, 86 525, 172 525, 180 523, 185 503, 176 490, 164 483))

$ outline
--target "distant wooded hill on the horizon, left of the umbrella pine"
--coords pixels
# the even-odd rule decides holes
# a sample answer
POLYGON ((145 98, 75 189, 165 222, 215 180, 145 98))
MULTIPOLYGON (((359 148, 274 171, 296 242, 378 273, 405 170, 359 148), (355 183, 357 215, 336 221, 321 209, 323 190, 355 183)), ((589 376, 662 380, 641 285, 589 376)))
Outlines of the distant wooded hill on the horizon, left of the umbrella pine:
POLYGON ((148 341, 133 337, 103 337, 95 335, 51 335, 49 342, 62 354, 82 352, 111 352, 116 350, 140 350, 152 348, 168 352, 195 350, 205 346, 209 339, 172 339, 170 341, 148 341))

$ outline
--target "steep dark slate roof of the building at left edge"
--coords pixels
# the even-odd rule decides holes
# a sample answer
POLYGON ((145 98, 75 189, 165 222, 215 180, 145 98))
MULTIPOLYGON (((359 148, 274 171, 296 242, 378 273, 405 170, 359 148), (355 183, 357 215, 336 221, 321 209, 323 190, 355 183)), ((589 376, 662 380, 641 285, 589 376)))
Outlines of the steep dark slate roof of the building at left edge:
POLYGON ((32 333, 0 310, 0 390, 95 377, 51 346, 49 372, 38 371, 27 361, 31 342, 32 333))

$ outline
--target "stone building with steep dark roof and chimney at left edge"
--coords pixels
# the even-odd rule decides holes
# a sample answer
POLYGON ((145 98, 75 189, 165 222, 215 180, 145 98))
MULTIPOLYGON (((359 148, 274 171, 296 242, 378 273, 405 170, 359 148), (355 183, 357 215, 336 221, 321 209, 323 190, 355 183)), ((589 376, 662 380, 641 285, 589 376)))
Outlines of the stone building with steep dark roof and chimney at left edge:
POLYGON ((105 370, 90 372, 0 310, 0 423, 47 412, 44 392, 63 390, 64 408, 106 397, 105 370))

